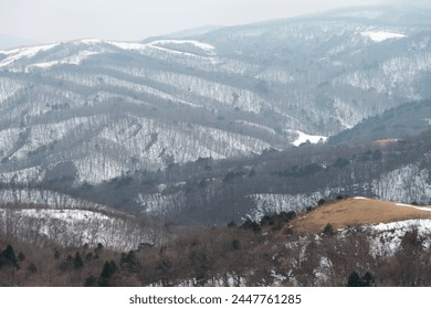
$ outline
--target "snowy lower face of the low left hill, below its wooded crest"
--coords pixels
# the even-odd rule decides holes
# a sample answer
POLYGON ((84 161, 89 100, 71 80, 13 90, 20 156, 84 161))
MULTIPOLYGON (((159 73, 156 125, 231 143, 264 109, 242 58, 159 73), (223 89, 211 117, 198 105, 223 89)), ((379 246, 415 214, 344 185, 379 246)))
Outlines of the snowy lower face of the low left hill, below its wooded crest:
POLYGON ((0 207, 0 233, 35 245, 90 245, 114 251, 137 249, 140 244, 159 244, 162 231, 153 224, 140 224, 127 216, 75 209, 10 209, 0 207))

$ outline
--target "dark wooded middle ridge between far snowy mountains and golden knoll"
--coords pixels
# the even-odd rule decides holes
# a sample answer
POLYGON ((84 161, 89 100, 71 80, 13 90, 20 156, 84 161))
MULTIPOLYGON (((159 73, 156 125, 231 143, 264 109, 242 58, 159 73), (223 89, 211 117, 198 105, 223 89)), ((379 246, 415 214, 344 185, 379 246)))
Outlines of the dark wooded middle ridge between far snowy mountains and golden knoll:
POLYGON ((75 189, 60 180, 41 185, 135 213, 208 225, 301 212, 338 195, 429 204, 430 134, 354 147, 305 143, 252 158, 200 159, 75 189))

